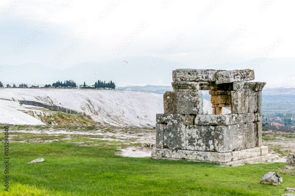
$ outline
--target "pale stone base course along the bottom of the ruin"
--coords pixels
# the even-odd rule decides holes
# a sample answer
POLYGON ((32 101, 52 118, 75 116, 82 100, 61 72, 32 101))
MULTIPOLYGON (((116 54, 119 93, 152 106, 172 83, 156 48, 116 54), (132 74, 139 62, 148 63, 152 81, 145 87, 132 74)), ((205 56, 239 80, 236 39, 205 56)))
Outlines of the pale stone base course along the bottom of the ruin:
POLYGON ((154 148, 152 150, 153 159, 202 161, 210 163, 228 163, 237 160, 264 156, 268 154, 267 146, 237 150, 229 153, 193 151, 193 150, 173 150, 168 148, 154 148))

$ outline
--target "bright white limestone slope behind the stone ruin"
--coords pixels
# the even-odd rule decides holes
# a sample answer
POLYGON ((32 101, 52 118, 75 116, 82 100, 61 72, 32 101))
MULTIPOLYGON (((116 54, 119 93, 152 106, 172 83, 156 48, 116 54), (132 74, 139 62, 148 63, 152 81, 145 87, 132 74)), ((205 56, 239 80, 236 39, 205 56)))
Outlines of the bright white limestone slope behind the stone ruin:
MULTIPOLYGON (((113 126, 153 127, 155 114, 164 112, 163 95, 138 91, 0 88, 0 98, 54 104, 85 112, 93 120, 113 126)), ((0 105, 3 104, 0 102, 0 105)), ((10 110, 18 109, 10 108, 10 110)), ((211 103, 208 100, 204 100, 204 111, 212 114, 211 103)), ((1 107, 0 114, 2 115, 0 123, 33 123, 30 120, 27 120, 27 123, 24 119, 21 120, 24 118, 23 115, 27 114, 20 111, 9 112, 7 108, 1 107), (19 119, 19 122, 16 122, 16 119, 19 119)))

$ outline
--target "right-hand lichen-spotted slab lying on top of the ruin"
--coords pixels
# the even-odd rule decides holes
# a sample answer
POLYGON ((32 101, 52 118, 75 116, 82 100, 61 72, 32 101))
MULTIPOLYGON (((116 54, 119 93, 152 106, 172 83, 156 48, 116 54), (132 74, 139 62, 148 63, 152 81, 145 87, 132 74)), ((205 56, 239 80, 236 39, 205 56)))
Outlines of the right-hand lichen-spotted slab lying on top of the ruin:
POLYGON ((232 71, 218 71, 215 74, 216 84, 232 83, 238 81, 254 80, 254 70, 232 70, 232 71))

